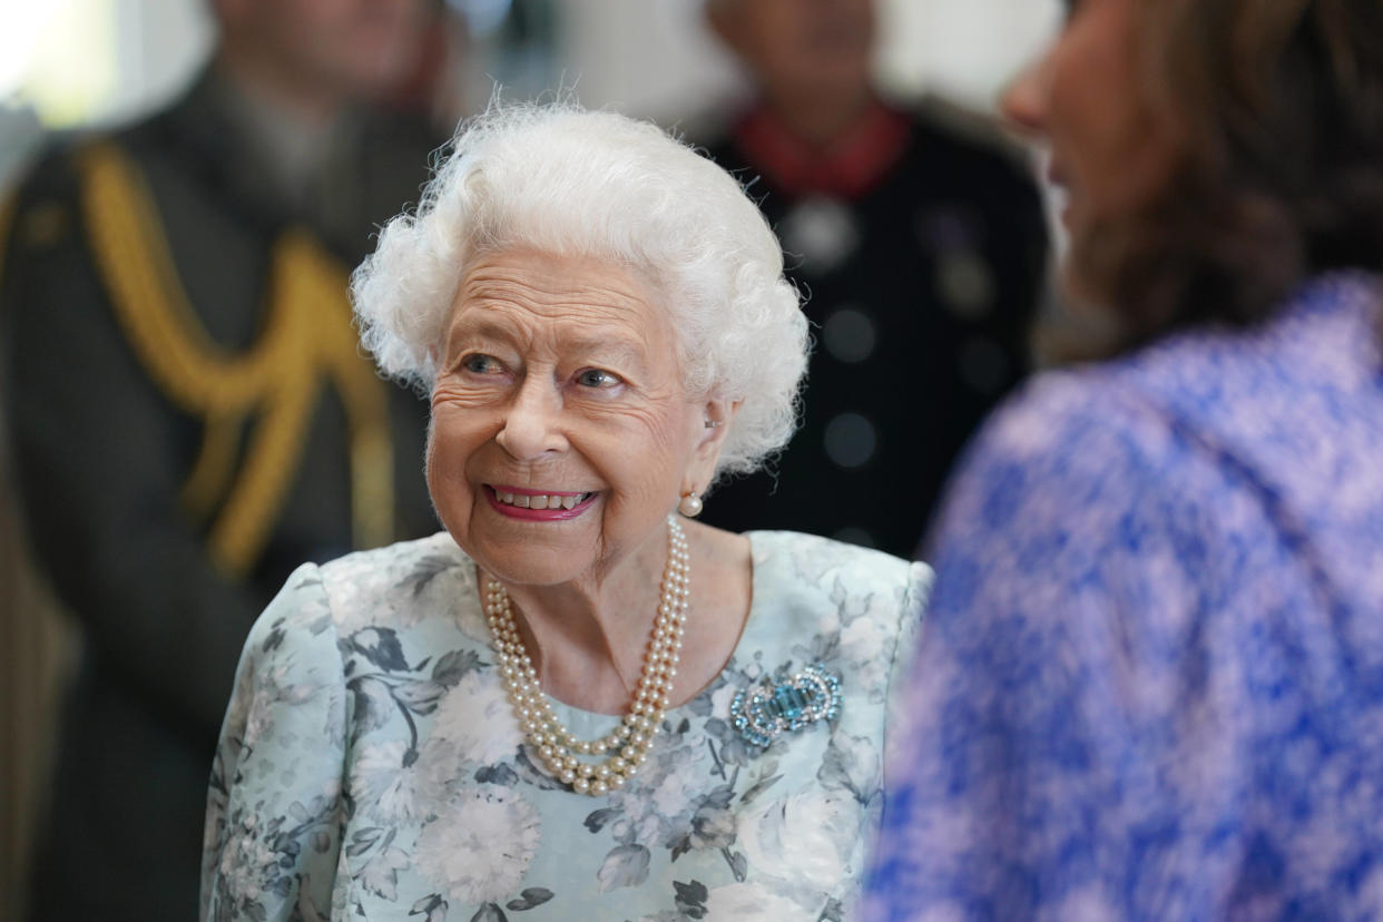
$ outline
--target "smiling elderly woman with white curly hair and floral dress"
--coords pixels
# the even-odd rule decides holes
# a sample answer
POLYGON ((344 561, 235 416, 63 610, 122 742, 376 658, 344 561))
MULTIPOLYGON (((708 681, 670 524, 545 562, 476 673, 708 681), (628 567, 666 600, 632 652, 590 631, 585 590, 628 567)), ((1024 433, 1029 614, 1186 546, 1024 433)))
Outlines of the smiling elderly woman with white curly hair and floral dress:
POLYGON ((260 618, 205 918, 841 918, 928 571, 690 521, 791 433, 781 271, 653 126, 462 131, 354 279, 365 344, 431 395, 445 531, 306 565, 260 618))

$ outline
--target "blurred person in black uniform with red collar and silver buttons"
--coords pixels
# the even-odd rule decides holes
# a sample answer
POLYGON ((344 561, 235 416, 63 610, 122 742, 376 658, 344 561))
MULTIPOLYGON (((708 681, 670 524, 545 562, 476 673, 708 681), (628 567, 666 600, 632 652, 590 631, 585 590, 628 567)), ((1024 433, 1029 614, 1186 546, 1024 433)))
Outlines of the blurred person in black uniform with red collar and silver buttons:
POLYGON ((880 95, 873 0, 707 0, 707 17, 758 90, 709 155, 781 238, 817 339, 777 476, 726 484, 708 518, 910 557, 961 444, 1028 370, 1037 191, 975 116, 880 95))

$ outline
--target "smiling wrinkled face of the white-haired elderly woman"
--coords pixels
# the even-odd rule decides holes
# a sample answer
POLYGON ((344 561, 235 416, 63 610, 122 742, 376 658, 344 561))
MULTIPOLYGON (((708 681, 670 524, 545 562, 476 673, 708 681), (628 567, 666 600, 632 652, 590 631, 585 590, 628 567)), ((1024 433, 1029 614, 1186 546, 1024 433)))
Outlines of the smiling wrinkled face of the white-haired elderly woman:
POLYGON ((444 332, 427 485, 447 531, 509 583, 600 581, 703 491, 726 426, 685 393, 651 288, 588 258, 483 256, 444 332))

